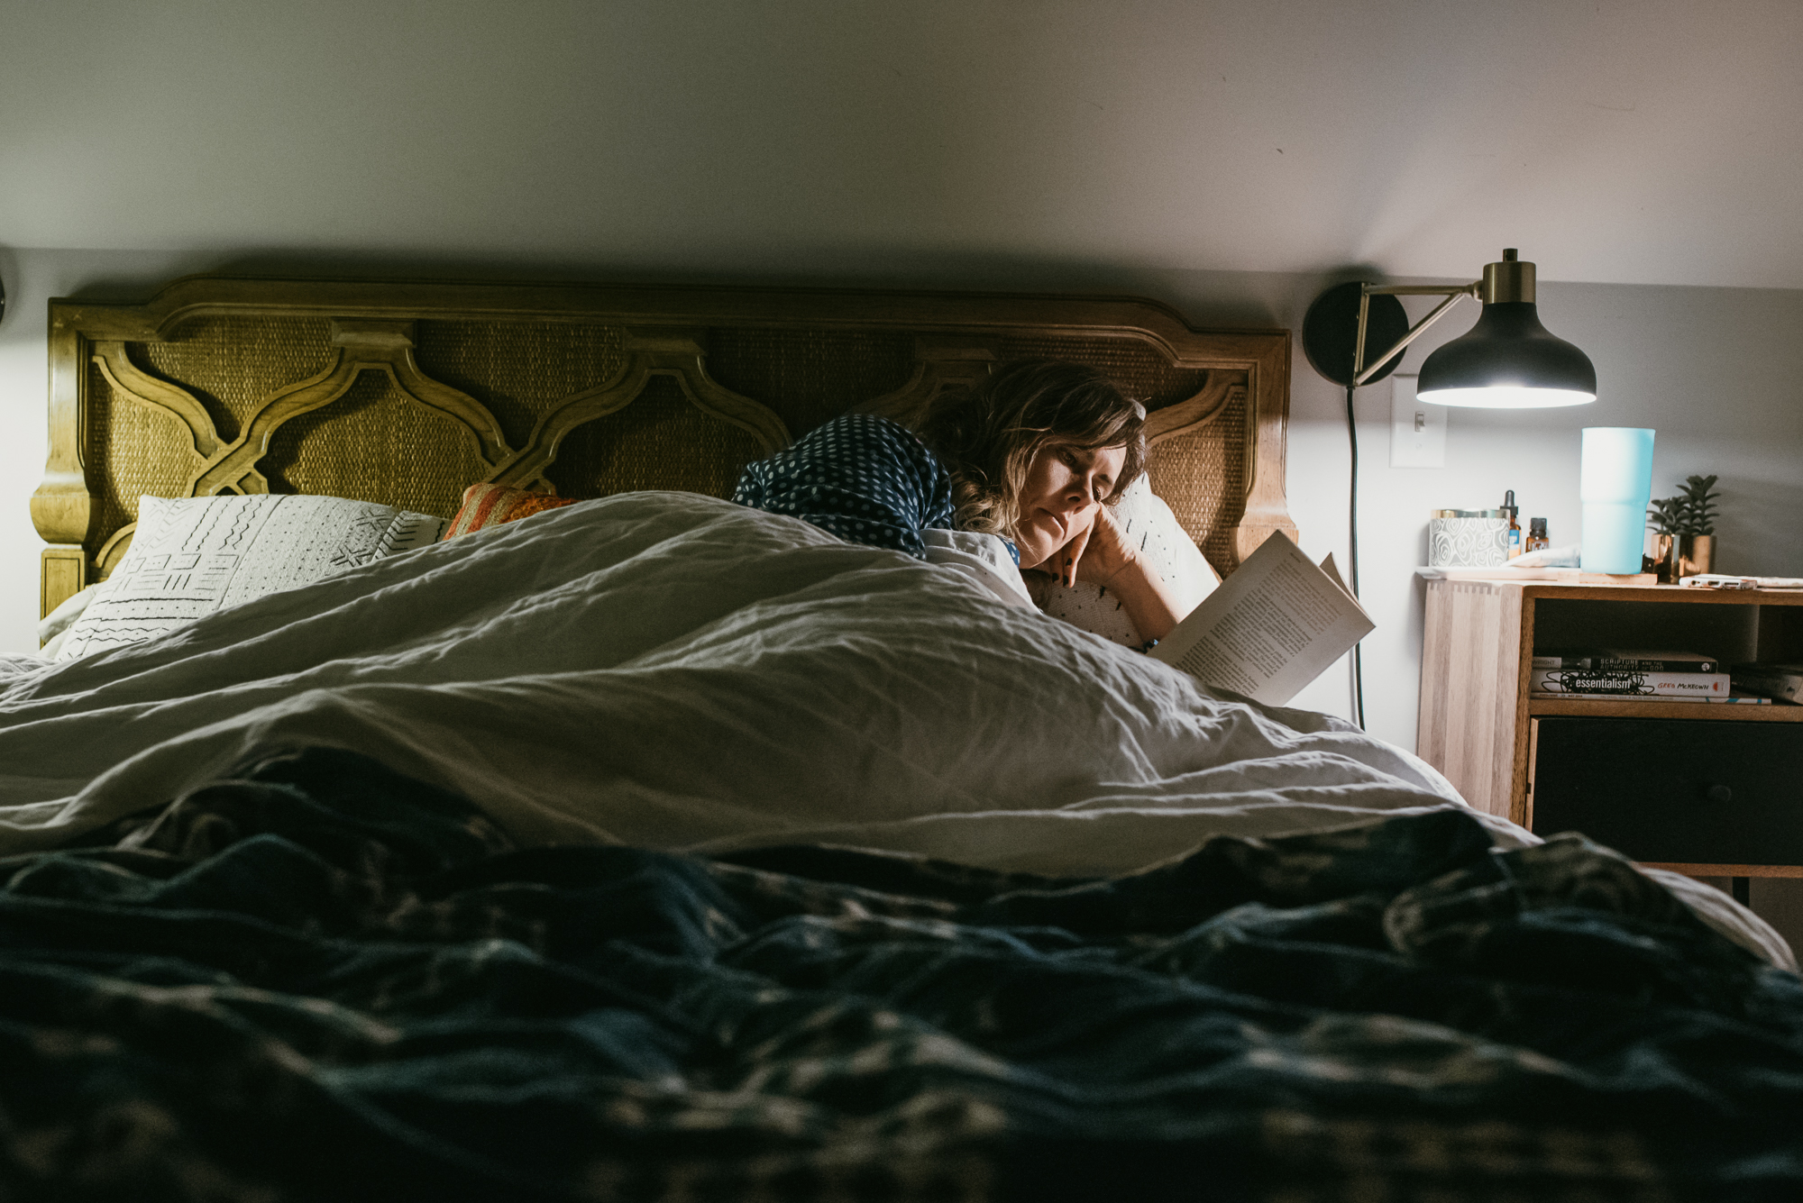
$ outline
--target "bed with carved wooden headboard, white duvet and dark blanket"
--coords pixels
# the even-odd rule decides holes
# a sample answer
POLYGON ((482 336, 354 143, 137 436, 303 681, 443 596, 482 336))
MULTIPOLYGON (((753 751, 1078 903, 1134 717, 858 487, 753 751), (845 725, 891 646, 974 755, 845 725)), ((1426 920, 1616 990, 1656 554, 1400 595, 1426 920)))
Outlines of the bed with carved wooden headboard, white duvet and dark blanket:
POLYGON ((144 560, 141 495, 584 501, 0 668, 20 1192, 1803 1189, 1803 992, 1722 895, 723 501, 1057 355, 1147 398, 1231 571, 1295 533, 1282 331, 211 277, 50 315, 45 612, 144 560))

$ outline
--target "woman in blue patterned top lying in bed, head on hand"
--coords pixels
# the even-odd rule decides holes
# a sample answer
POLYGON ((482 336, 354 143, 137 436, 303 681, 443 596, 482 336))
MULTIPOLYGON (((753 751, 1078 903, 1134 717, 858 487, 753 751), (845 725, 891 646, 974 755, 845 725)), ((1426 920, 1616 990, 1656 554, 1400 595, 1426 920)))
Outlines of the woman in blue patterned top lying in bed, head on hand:
POLYGON ((941 393, 920 432, 844 414, 745 468, 734 501, 925 558, 923 531, 1001 535, 1022 569, 1094 582, 1158 641, 1181 614, 1109 506, 1145 472, 1145 409, 1093 367, 1017 360, 941 393))

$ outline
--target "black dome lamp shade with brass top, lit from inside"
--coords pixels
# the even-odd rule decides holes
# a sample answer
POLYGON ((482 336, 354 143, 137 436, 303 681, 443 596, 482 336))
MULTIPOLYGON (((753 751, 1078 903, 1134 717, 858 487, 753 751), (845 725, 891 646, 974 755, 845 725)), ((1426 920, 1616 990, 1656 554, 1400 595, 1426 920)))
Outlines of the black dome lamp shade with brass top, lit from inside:
POLYGON ((1435 405, 1540 409, 1596 400, 1590 357, 1540 324, 1534 265, 1513 250, 1484 267, 1477 324, 1421 364, 1415 394, 1435 405))

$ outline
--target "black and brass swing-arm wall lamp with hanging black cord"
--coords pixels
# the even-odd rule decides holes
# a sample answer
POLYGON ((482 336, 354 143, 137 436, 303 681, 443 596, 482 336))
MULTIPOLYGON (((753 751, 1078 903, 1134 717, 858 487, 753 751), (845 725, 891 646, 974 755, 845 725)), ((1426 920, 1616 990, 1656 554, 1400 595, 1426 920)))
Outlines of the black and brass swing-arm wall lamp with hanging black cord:
MULTIPOLYGON (((1442 344, 1421 364, 1415 396, 1435 405, 1484 409, 1543 409, 1596 400, 1590 357, 1540 324, 1534 308, 1534 265, 1513 249, 1500 263, 1486 263, 1484 277, 1469 285, 1336 285, 1314 299, 1302 319, 1302 349, 1309 364, 1347 391, 1347 439, 1352 448, 1352 484, 1347 502, 1350 546, 1347 567, 1358 596, 1358 427, 1352 394, 1376 384, 1403 362, 1403 349, 1441 321, 1460 297, 1484 304, 1477 324, 1442 344), (1397 297, 1446 297, 1414 326, 1397 297), (1388 348, 1376 357, 1367 346, 1388 348)), ((1365 726, 1365 681, 1358 647, 1352 648, 1352 690, 1358 724, 1365 726)))

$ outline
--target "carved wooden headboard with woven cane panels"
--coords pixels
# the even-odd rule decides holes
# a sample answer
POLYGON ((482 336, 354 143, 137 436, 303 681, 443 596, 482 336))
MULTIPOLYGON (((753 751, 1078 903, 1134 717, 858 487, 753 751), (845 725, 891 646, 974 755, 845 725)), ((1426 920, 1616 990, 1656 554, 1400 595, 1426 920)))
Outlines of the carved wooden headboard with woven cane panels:
POLYGON ((188 277, 142 304, 50 303, 43 611, 123 558, 141 493, 444 517, 476 481, 730 495, 835 414, 1028 355, 1145 400, 1152 486, 1219 569, 1295 537, 1287 331, 1197 331, 1123 299, 188 277))

